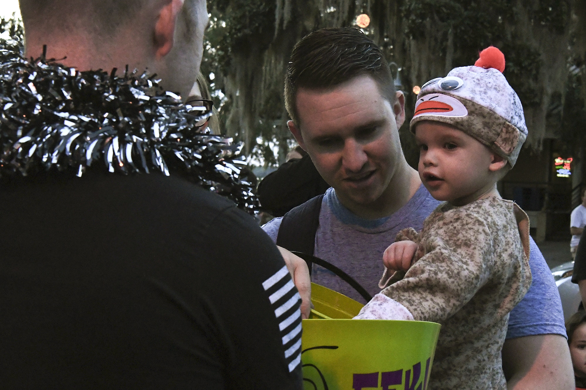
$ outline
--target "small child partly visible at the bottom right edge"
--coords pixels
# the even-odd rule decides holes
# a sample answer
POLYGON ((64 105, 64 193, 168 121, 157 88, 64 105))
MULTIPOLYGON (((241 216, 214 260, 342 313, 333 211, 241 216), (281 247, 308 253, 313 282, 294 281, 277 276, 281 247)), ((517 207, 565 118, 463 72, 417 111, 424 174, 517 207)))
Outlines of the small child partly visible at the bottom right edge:
POLYGON ((565 323, 576 390, 586 390, 586 312, 579 310, 565 323))

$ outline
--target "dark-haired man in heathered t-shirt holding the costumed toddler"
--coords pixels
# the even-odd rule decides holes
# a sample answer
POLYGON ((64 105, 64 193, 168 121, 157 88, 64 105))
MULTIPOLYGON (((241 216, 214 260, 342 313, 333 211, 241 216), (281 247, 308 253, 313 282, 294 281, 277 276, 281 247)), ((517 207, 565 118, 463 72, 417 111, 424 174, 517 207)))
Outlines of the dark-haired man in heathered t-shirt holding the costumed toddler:
MULTIPOLYGON (((403 228, 421 230, 438 205, 407 165, 398 128, 404 97, 380 50, 353 29, 325 29, 295 47, 285 82, 289 129, 333 187, 319 202, 314 254, 353 276, 374 295, 383 252, 403 228)), ((304 206, 300 206, 304 207, 304 206)), ((294 209, 295 210, 295 209, 294 209)), ((264 226, 277 244, 281 224, 264 226)), ((556 287, 530 242, 533 283, 510 314, 503 346, 507 386, 569 389, 571 364, 556 287)), ((314 266, 314 281, 356 297, 335 276, 314 266)), ((482 351, 478 351, 482 353, 482 351)))

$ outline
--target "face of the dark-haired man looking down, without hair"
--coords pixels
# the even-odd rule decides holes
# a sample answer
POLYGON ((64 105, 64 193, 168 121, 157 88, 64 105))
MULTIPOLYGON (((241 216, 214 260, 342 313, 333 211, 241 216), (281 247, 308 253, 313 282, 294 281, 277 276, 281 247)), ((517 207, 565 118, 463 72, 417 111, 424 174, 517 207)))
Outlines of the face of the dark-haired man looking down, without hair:
POLYGON ((391 106, 373 78, 359 76, 332 90, 300 88, 296 101, 299 128, 289 121, 289 129, 340 201, 352 208, 379 199, 403 158, 403 94, 391 106))

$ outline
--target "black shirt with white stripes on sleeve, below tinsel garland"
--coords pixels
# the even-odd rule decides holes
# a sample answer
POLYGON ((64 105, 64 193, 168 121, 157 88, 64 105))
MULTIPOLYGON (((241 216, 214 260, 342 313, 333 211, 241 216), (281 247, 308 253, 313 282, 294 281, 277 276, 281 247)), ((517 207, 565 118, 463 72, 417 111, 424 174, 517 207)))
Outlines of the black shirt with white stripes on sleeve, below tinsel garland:
POLYGON ((301 317, 254 218, 180 178, 0 185, 2 389, 300 389, 301 317))

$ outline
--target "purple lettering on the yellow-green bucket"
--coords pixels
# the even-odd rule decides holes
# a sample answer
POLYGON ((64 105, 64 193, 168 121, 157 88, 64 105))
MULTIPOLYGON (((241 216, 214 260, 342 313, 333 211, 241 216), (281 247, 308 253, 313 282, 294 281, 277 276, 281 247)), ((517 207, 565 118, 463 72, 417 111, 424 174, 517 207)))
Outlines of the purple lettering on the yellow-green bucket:
POLYGON ((421 378, 421 382, 421 362, 418 362, 413 365, 413 370, 405 370, 404 382, 403 370, 387 372, 370 372, 370 374, 353 374, 352 388, 354 390, 362 390, 369 388, 383 388, 383 390, 425 390, 427 389, 427 379, 429 378, 430 374, 430 362, 431 358, 429 358, 425 362, 425 374, 423 378, 421 378), (412 371, 413 376, 411 375, 412 371), (420 383, 417 386, 418 382, 420 383), (399 388, 397 387, 398 385, 404 386, 403 388, 399 388))

